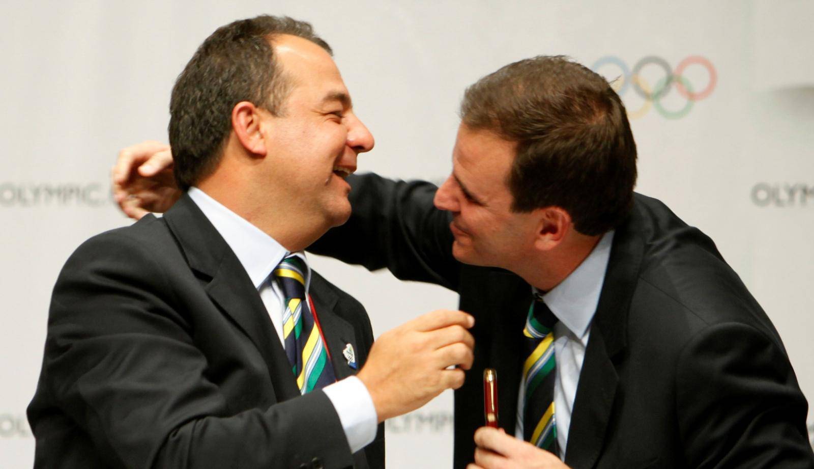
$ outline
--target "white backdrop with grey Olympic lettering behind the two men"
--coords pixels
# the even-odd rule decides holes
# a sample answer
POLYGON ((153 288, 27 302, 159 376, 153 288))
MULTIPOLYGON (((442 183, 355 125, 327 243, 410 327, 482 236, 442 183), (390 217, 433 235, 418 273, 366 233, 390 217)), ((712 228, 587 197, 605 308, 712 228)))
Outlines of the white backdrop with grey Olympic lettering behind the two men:
MULTIPOLYGON (((446 176, 462 90, 510 61, 602 59, 597 70, 611 78, 641 62, 638 83, 652 90, 667 73, 659 64, 675 72, 687 59, 682 76, 694 100, 673 86, 648 101, 618 82, 639 148, 637 190, 716 240, 814 398, 810 0, 4 2, 0 467, 33 461, 24 411, 60 267, 92 234, 129 223, 109 198, 116 152, 165 140, 169 91, 195 48, 221 24, 260 13, 309 20, 330 42, 377 141, 360 169, 396 178, 446 176)), ((457 305, 438 287, 326 259, 315 265, 367 306, 377 335, 457 305)), ((388 423, 388 466, 450 467, 451 409, 444 394, 388 423)))

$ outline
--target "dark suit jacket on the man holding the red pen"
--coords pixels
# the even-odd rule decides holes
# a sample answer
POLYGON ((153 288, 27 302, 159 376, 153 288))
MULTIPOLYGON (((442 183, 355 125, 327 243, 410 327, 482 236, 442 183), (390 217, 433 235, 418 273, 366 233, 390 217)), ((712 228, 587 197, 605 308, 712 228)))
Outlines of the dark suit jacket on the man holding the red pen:
MULTIPOLYGON (((457 291, 475 316, 475 363, 455 392, 454 466, 484 425, 484 367, 497 368, 499 423, 513 433, 531 289, 452 256, 435 186, 353 179, 351 220, 312 249, 457 291)), ((636 195, 615 232, 585 351, 566 461, 574 469, 812 468, 807 403, 772 323, 715 244, 636 195)))

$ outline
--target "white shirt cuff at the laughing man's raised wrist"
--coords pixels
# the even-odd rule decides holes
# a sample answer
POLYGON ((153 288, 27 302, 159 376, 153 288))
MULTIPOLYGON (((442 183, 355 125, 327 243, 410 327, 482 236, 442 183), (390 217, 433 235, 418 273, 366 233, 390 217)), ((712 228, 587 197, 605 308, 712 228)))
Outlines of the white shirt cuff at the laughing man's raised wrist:
POLYGON ((322 388, 339 414, 351 453, 370 445, 376 438, 378 415, 370 392, 361 379, 350 376, 322 388))

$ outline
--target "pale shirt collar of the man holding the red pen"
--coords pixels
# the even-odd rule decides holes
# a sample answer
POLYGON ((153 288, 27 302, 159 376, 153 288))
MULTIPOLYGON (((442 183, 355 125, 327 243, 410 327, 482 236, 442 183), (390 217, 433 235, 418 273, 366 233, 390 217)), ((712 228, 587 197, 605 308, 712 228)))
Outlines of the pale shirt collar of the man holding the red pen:
POLYGON ((614 230, 603 234, 602 239, 599 239, 599 243, 576 270, 545 295, 532 287, 534 295, 543 300, 554 316, 577 337, 585 335, 593 314, 597 312, 613 235, 614 230))

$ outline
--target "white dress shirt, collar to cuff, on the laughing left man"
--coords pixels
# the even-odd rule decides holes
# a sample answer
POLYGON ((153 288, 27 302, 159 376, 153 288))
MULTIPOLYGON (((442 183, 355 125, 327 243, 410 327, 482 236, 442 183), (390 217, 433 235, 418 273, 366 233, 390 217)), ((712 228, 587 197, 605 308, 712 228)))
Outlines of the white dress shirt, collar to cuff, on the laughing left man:
MULTIPOLYGON (((237 213, 225 208, 217 200, 212 199, 197 187, 190 188, 190 199, 201 209, 201 212, 215 226, 218 233, 238 257, 243 269, 252 279, 252 284, 260 292, 263 305, 269 313, 274 329, 282 344, 286 347, 282 336, 282 314, 285 313, 285 296, 271 273, 282 259, 290 254, 280 243, 264 231, 240 217, 237 213)), ((304 252, 296 252, 305 261, 304 252)), ((305 291, 309 291, 311 284, 311 270, 305 279, 305 291)), ((318 313, 318 312, 317 312, 318 313)), ((291 375, 293 379, 294 376, 291 375)), ((330 384, 322 391, 326 393, 334 405, 339 421, 348 438, 351 452, 369 445, 376 437, 377 414, 370 392, 365 384, 356 377, 350 376, 330 384)))

